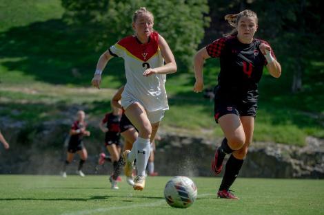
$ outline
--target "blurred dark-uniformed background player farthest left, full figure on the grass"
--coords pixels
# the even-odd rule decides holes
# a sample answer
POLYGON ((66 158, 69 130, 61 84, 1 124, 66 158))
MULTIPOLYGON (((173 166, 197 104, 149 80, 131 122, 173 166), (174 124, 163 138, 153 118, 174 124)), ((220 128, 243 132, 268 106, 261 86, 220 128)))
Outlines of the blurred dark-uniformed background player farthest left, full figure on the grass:
POLYGON ((72 162, 75 152, 80 156, 79 166, 77 174, 81 177, 85 177, 85 174, 81 171, 83 163, 88 159, 88 152, 83 145, 83 137, 90 136, 90 131, 86 130, 87 124, 85 123, 84 111, 77 112, 77 121, 73 122, 70 129, 70 140, 68 143, 68 153, 66 160, 63 164, 62 177, 66 178, 66 166, 72 162))

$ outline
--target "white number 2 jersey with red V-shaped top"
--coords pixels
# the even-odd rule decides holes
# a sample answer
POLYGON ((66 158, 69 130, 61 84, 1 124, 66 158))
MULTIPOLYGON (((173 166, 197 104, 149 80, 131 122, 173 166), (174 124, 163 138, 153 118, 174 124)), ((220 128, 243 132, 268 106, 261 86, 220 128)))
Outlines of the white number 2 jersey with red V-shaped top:
POLYGON ((121 94, 123 108, 139 102, 149 112, 169 109, 165 91, 166 75, 143 76, 145 69, 164 65, 157 32, 152 32, 149 42, 145 44, 136 36, 125 37, 110 47, 110 54, 124 59, 127 82, 121 94))

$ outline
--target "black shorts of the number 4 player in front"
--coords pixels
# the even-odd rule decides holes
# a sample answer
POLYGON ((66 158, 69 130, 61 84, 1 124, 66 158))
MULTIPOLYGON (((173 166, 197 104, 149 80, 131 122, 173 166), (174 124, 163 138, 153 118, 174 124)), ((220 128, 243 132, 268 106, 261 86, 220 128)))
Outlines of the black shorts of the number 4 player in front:
POLYGON ((235 114, 238 116, 256 117, 258 103, 256 101, 236 100, 230 101, 221 98, 214 100, 214 118, 216 123, 219 123, 219 118, 226 114, 235 114))

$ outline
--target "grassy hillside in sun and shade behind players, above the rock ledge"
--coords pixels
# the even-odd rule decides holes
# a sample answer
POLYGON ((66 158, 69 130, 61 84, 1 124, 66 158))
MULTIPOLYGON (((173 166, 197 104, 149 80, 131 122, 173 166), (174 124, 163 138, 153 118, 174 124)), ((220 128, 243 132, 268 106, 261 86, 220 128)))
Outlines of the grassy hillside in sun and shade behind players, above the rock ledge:
MULTIPOLYGON (((59 0, 0 1, 1 115, 41 122, 46 117, 59 117, 62 106, 82 104, 88 107, 90 116, 110 109, 112 93, 125 83, 123 60, 114 58, 108 64, 103 90, 90 89, 94 67, 103 52, 89 43, 95 27, 67 25, 61 19, 63 12, 59 0)), ((104 47, 115 42, 101 41, 104 47)), ((310 62, 304 71, 304 90, 294 94, 290 93, 290 62, 280 53, 278 58, 283 65, 282 77, 277 80, 265 71, 259 84, 254 141, 302 146, 308 135, 324 138, 323 60, 310 62)), ((201 93, 192 92, 194 74, 180 65, 166 82, 170 111, 165 114, 162 128, 221 136, 213 119, 213 103, 203 99, 201 93)), ((205 87, 214 87, 218 72, 217 60, 207 60, 205 87)))

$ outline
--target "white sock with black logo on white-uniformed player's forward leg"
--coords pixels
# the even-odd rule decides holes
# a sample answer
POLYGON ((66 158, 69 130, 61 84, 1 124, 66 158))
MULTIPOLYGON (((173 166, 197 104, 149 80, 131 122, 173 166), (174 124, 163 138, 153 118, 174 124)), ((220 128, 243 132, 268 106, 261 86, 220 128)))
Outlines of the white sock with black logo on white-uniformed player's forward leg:
POLYGON ((148 164, 148 158, 150 157, 150 139, 143 139, 141 137, 137 137, 136 141, 136 167, 137 167, 137 175, 143 174, 145 175, 145 168, 148 164))

